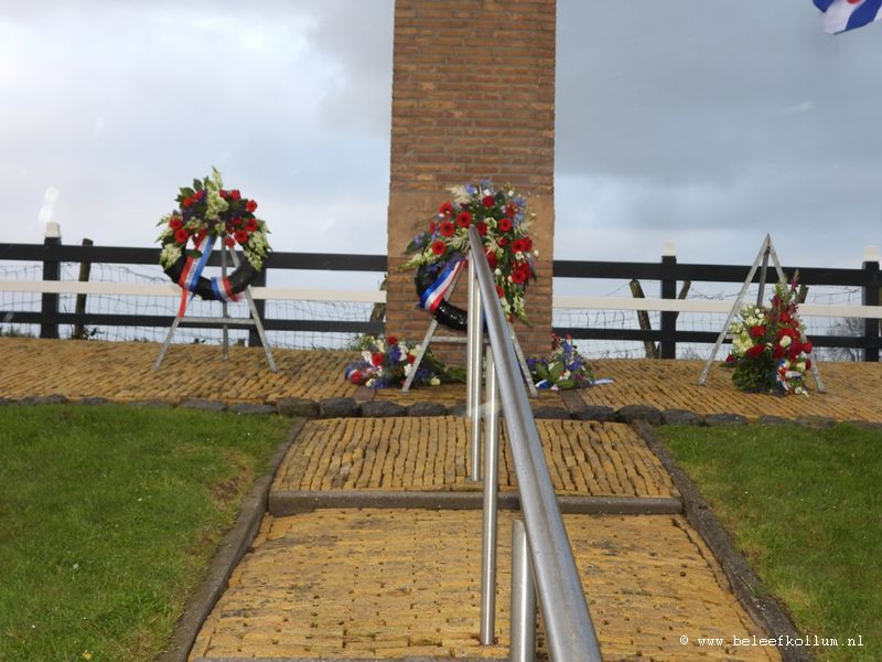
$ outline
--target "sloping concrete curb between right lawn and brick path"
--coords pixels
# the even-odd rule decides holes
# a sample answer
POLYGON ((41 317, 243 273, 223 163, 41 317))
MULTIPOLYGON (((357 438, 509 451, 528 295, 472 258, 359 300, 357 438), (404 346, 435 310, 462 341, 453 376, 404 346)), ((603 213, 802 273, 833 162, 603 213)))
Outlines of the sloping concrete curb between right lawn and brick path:
MULTIPOLYGON (((771 637, 789 637, 802 639, 790 617, 784 608, 771 596, 745 558, 735 547, 732 537, 713 515, 713 511, 704 501, 692 479, 680 469, 677 460, 662 440, 655 435, 653 428, 645 421, 637 421, 634 428, 646 441, 649 449, 658 457, 667 469, 674 484, 682 495, 686 517, 704 540, 713 556, 722 566, 732 591, 738 597, 747 613, 771 637)), ((778 652, 785 662, 810 662, 815 656, 805 647, 778 647, 778 652)))

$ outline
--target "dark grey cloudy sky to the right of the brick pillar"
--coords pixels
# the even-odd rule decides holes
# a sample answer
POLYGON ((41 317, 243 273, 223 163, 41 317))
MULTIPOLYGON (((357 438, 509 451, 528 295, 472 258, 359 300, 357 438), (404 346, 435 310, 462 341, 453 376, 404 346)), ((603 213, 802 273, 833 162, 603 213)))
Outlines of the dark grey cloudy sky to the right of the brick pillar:
POLYGON ((560 0, 558 14, 558 196, 604 201, 582 223, 740 228, 745 245, 797 229, 818 258, 879 243, 882 25, 829 36, 810 2, 560 0))

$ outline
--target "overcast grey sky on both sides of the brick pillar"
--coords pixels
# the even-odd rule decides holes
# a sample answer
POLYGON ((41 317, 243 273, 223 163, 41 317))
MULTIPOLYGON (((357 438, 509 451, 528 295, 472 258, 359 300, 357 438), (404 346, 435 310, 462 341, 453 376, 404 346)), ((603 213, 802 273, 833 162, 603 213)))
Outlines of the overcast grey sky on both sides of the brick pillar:
MULTIPOLYGON (((3 241, 155 245, 217 166, 277 250, 383 253, 392 0, 0 0, 3 241)), ((558 0, 556 257, 859 266, 882 23, 810 0, 558 0)), ((439 192, 439 197, 443 192, 439 192)))

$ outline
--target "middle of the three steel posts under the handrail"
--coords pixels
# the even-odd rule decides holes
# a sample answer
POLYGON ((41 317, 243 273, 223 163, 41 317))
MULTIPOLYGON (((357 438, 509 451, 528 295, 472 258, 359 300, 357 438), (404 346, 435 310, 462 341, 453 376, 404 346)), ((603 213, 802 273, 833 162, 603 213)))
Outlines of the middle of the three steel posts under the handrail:
POLYGON ((499 490, 499 384, 487 348, 484 416, 484 523, 481 545, 481 643, 491 645, 496 629, 496 501, 499 490))

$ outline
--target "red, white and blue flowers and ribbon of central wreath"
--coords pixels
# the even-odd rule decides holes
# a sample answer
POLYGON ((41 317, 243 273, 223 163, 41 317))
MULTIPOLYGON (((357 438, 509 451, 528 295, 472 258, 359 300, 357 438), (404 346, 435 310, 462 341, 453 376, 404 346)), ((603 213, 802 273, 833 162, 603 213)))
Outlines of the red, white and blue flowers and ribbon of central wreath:
MULTIPOLYGON (((533 215, 527 212, 527 201, 513 188, 497 189, 490 181, 453 186, 450 192, 451 200, 441 204, 429 228, 408 245, 406 252, 413 257, 401 269, 428 267, 439 284, 432 289, 432 301, 441 299, 465 264, 467 232, 474 225, 494 271, 505 314, 526 322, 524 291, 527 281, 536 278, 539 254, 528 234, 533 215)), ((432 301, 421 305, 434 311, 432 301)))

